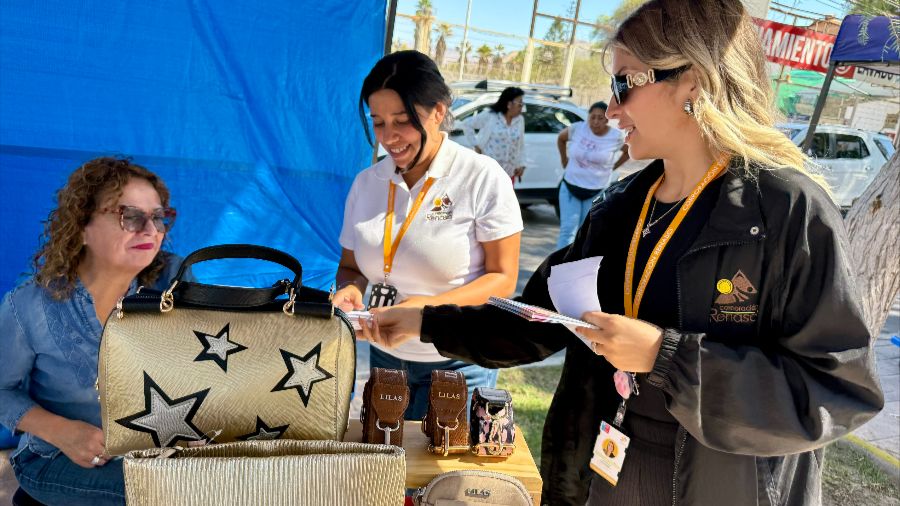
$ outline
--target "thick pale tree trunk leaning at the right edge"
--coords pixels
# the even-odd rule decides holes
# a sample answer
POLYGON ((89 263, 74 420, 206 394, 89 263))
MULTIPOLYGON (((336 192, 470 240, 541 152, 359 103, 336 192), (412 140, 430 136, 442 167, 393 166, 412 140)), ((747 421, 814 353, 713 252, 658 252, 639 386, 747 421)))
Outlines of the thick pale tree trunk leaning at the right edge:
POLYGON ((878 336, 900 290, 900 151, 844 220, 866 326, 878 336))

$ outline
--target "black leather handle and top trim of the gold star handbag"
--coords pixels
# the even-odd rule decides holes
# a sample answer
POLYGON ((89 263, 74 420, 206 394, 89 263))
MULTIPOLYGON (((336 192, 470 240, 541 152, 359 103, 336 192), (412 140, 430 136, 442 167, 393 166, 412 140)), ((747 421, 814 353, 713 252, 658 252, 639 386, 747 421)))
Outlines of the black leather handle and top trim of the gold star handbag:
POLYGON ((223 308, 241 308, 265 305, 279 295, 290 292, 291 288, 295 293, 299 293, 303 286, 302 279, 303 267, 300 262, 283 251, 253 244, 222 244, 202 248, 188 255, 181 262, 181 267, 172 282, 178 281, 173 291, 176 301, 223 308), (290 269, 294 273, 294 279, 289 285, 278 282, 271 288, 217 286, 184 280, 184 275, 190 266, 207 260, 228 258, 253 258, 274 262, 290 269))

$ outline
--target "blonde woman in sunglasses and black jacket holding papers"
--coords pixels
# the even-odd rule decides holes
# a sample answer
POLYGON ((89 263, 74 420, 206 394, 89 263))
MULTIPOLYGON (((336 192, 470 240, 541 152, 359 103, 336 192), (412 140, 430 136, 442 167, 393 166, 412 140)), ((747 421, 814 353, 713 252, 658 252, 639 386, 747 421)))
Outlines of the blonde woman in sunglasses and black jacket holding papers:
POLYGON ((837 208, 773 128, 739 0, 653 0, 610 45, 607 115, 635 159, 551 267, 603 257, 603 311, 562 326, 489 306, 378 313, 487 366, 569 348, 544 426, 547 504, 819 504, 822 448, 883 405, 837 208), (588 344, 589 348, 585 345, 588 344))

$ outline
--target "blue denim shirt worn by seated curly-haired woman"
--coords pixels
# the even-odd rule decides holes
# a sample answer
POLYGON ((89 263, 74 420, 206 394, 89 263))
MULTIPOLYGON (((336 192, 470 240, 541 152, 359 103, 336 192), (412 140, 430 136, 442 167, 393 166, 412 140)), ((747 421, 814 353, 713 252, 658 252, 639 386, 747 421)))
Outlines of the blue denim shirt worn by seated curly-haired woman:
MULTIPOLYGON (((168 255, 153 288, 165 290, 181 258, 168 255)), ((137 290, 131 282, 128 294, 137 290)), ((14 430, 35 406, 97 427, 100 397, 95 387, 103 328, 94 300, 81 280, 72 294, 54 299, 28 279, 0 303, 0 424, 14 430)), ((59 450, 43 439, 23 434, 19 450, 52 457, 59 450)), ((17 453, 18 453, 17 451, 17 453)))

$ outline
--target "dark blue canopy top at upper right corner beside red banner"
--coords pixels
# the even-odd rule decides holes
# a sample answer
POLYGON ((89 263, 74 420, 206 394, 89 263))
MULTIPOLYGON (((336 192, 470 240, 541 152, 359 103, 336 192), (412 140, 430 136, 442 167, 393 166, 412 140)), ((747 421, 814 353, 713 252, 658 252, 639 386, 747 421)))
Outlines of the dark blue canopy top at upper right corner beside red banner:
MULTIPOLYGON (((897 22, 897 19, 894 19, 897 22)), ((887 16, 851 14, 841 22, 841 29, 831 51, 834 62, 897 63, 900 54, 897 36, 887 16)))

